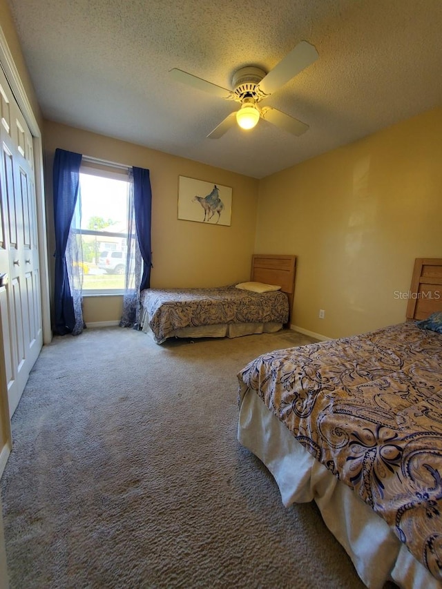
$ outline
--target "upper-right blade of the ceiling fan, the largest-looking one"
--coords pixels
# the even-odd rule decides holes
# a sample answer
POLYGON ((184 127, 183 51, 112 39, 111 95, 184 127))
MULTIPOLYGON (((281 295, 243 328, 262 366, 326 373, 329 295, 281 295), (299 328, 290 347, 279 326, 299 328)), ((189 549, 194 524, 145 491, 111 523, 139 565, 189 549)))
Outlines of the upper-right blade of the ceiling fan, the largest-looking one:
POLYGON ((318 52, 314 46, 307 41, 301 41, 260 81, 260 90, 265 94, 275 92, 289 79, 313 64, 316 59, 318 59, 318 52))

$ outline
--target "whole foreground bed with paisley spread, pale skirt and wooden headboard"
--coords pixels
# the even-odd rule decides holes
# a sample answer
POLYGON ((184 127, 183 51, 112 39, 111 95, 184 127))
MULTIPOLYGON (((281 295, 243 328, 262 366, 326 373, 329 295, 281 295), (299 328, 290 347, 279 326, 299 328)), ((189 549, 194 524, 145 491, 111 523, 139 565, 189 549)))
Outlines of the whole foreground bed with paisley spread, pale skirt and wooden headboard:
POLYGON ((238 439, 285 505, 316 501, 379 589, 442 586, 442 260, 416 272, 409 321, 272 351, 238 374, 238 439))

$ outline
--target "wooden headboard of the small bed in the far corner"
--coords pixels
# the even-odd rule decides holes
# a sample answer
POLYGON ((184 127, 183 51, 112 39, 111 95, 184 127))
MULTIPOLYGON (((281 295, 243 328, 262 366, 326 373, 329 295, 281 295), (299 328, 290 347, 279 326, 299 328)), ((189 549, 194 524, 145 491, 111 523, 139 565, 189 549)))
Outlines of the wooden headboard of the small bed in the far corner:
POLYGON ((296 255, 254 253, 251 257, 250 280, 278 284, 289 298, 289 323, 295 291, 296 255))

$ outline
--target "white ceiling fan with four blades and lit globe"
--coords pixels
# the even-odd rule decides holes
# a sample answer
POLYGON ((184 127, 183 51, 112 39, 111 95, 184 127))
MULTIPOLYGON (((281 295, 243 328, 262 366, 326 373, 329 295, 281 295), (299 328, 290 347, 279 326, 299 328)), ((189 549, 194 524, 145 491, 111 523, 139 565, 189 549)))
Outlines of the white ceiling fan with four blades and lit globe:
POLYGON ((176 81, 220 98, 235 100, 241 104, 240 110, 227 115, 224 121, 220 122, 207 135, 211 139, 222 137, 235 122, 238 122, 238 125, 244 129, 251 129, 258 124, 260 118, 293 135, 302 135, 309 128, 307 124, 282 113, 273 106, 260 107, 258 102, 278 90, 289 79, 313 64, 316 59, 318 59, 318 52, 314 46, 307 41, 301 41, 269 73, 265 73, 264 70, 256 66, 240 68, 233 74, 233 90, 227 90, 227 88, 222 88, 177 68, 173 68, 169 73, 176 81))

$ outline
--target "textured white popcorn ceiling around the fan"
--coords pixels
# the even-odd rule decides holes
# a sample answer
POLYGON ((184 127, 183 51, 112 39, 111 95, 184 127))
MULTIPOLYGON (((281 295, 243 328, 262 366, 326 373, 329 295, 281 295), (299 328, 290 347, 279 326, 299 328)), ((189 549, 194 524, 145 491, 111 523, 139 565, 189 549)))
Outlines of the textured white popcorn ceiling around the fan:
POLYGON ((265 177, 442 104, 441 0, 9 0, 44 116, 265 177), (231 88, 299 41, 318 60, 263 104, 309 124, 260 121, 207 139, 235 102, 169 78, 231 88))

